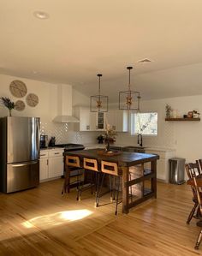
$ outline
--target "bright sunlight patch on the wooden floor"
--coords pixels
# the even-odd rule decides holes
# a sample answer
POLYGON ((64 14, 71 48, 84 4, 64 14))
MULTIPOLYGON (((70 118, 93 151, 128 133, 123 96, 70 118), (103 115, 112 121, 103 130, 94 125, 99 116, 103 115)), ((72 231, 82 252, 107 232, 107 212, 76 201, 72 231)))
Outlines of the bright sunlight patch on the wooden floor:
POLYGON ((62 223, 80 220, 84 217, 88 217, 92 213, 93 211, 86 209, 74 211, 58 211, 56 213, 33 217, 32 219, 21 224, 27 229, 31 229, 34 226, 57 226, 62 223))

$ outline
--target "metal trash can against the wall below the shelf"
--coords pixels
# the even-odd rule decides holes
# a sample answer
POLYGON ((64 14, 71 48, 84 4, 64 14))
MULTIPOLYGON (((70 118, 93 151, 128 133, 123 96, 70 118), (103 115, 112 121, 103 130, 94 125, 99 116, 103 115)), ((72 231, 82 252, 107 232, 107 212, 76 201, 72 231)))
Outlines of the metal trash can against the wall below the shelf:
POLYGON ((169 159, 169 183, 181 185, 185 182, 185 158, 169 159))

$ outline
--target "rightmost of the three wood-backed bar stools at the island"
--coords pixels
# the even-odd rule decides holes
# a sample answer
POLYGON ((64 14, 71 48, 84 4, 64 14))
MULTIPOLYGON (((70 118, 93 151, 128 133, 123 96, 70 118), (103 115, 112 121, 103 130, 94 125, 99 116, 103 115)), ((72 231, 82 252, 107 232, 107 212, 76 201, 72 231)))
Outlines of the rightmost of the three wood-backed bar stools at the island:
MULTIPOLYGON (((117 214, 117 208, 118 208, 118 204, 121 203, 121 201, 119 201, 119 190, 120 190, 120 185, 122 182, 122 170, 118 168, 118 165, 116 163, 112 163, 112 162, 107 162, 107 161, 101 161, 101 172, 105 175, 109 175, 110 178, 111 176, 114 177, 114 182, 113 182, 113 188, 111 189, 111 180, 110 180, 110 199, 115 199, 115 193, 116 193, 116 211, 115 214, 117 214), (117 184, 117 189, 116 189, 116 177, 118 177, 118 184, 117 184)), ((96 206, 98 207, 99 204, 99 198, 102 196, 101 195, 101 191, 103 188, 103 183, 104 183, 104 175, 102 176, 102 182, 99 188, 99 192, 98 192, 98 197, 97 197, 97 204, 96 206)))

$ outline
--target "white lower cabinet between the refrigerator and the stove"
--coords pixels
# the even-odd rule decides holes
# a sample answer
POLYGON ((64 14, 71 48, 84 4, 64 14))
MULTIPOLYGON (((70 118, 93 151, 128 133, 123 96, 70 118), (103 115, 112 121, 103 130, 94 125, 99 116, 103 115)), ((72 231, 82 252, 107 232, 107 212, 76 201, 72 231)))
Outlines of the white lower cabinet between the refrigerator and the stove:
POLYGON ((41 151, 39 163, 40 182, 62 176, 64 168, 63 149, 41 151))

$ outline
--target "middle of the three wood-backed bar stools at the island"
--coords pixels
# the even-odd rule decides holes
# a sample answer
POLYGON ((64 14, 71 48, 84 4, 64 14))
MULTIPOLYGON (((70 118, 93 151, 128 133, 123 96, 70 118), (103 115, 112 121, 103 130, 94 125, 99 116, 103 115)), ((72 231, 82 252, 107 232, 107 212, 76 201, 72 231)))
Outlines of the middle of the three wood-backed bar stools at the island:
POLYGON ((98 161, 97 161, 97 159, 83 158, 83 167, 84 167, 84 179, 83 179, 83 182, 82 182, 82 186, 80 186, 80 181, 79 181, 77 200, 81 199, 82 191, 86 190, 87 188, 93 188, 95 186, 96 187, 96 191, 95 191, 96 199, 95 199, 95 201, 97 202, 99 173, 100 173, 99 170, 98 170, 98 161), (88 170, 91 171, 91 182, 90 182, 90 184, 88 186, 86 186, 86 188, 84 188, 86 171, 88 171, 88 170), (94 174, 96 174, 96 180, 95 181, 93 179, 93 175, 94 174))

